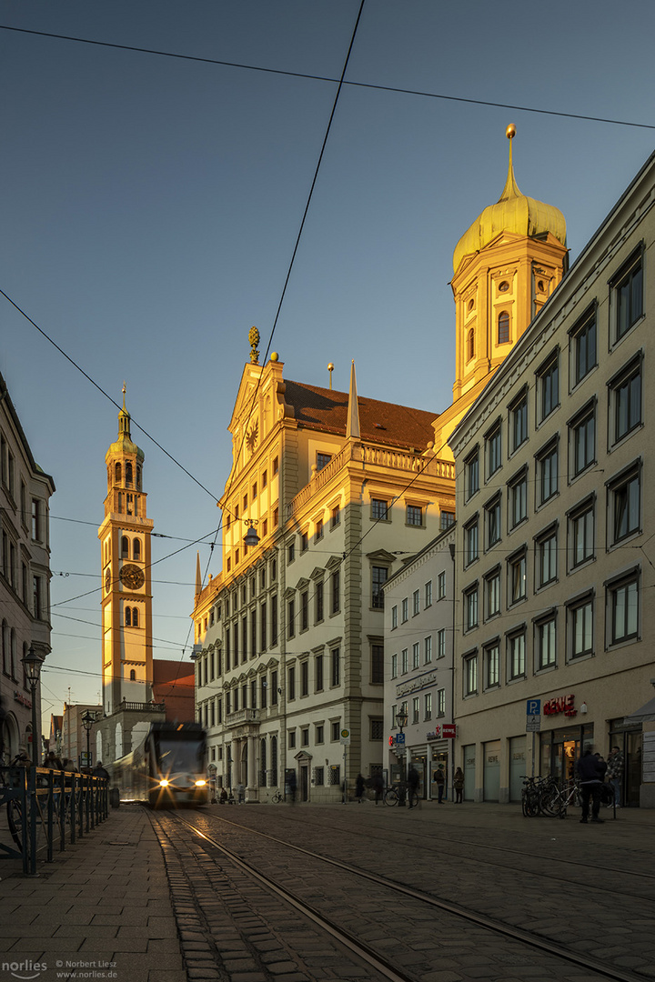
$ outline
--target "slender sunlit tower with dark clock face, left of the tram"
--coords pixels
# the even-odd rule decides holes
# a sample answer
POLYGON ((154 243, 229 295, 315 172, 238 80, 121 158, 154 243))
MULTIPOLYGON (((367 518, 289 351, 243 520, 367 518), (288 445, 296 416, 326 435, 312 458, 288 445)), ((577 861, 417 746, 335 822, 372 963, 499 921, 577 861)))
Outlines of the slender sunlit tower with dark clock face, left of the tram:
POLYGON ((118 440, 105 455, 107 497, 98 529, 102 565, 102 702, 107 716, 152 699, 150 534, 143 491, 143 451, 133 443, 130 413, 118 414, 118 440))

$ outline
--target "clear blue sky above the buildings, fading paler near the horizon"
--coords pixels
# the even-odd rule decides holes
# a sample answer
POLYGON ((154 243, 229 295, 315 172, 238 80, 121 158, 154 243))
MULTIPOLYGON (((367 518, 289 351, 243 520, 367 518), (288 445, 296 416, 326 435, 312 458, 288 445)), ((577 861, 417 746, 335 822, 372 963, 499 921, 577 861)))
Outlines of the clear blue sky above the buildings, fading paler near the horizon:
MULTIPOLYGON (((266 348, 358 0, 0 0, 0 289, 120 402, 155 531, 155 657, 189 659, 196 546, 217 526, 254 324, 266 348), (208 493, 210 492, 210 493, 208 493)), ((420 409, 452 398, 449 280, 503 189, 557 205, 572 258, 652 152, 652 0, 367 0, 272 343, 285 376, 420 409), (504 109, 459 101, 524 106, 504 109)), ((0 297, 0 371, 52 499, 45 715, 99 689, 104 454, 117 410, 0 297), (67 519, 76 519, 75 521, 67 519), (63 573, 63 575, 59 575, 63 573), (49 705, 51 703, 52 705, 49 705)), ((220 542, 220 535, 219 535, 220 542)), ((203 569, 210 560, 200 547, 203 569)), ((209 570, 218 573, 220 550, 209 570)))

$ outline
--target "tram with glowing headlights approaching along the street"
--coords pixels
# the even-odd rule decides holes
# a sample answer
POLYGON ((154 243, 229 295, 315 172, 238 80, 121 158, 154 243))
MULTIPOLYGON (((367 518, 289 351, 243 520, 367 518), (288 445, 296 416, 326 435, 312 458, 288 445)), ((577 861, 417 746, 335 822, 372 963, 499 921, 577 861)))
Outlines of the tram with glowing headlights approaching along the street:
POLYGON ((151 808, 207 803, 204 731, 199 723, 152 723, 135 749, 112 764, 122 801, 151 808))

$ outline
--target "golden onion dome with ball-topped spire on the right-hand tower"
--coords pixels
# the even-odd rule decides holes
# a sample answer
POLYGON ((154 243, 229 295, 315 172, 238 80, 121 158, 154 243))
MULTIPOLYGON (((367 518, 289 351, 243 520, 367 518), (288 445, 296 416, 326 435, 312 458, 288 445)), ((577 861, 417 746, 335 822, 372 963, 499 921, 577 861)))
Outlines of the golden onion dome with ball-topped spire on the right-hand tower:
MULTIPOLYGON (((511 141, 516 127, 507 128, 506 135, 511 141)), ((515 232, 519 236, 534 237, 551 232, 563 246, 567 245, 567 222, 560 211, 552 204, 544 204, 533 197, 521 194, 514 176, 512 164, 512 142, 510 142, 510 167, 505 188, 496 204, 490 204, 464 232, 453 253, 453 268, 457 272, 465 255, 477 252, 488 246, 501 232, 515 232)))

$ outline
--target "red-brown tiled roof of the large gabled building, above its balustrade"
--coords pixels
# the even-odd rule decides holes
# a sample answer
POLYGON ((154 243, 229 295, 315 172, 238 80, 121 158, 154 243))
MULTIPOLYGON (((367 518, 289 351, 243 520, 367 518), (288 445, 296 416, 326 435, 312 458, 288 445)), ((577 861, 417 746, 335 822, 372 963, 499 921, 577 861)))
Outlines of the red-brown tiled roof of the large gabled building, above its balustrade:
MULTIPOLYGON (((346 438, 348 393, 334 389, 321 389, 304 382, 285 381, 285 402, 295 410, 301 426, 337 433, 346 438)), ((425 450, 434 442, 432 423, 437 412, 411 409, 395 403, 381 403, 377 399, 357 398, 359 430, 366 443, 385 446, 414 447, 425 450)))

